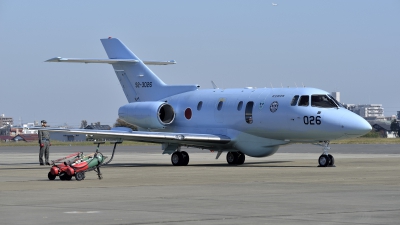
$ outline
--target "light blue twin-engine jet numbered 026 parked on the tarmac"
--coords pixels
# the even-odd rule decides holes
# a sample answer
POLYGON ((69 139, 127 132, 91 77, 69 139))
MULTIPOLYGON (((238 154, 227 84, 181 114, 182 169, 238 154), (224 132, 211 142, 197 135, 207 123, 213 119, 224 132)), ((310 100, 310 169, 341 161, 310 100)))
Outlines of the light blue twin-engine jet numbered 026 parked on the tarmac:
POLYGON ((165 84, 146 65, 171 65, 171 61, 142 61, 117 38, 101 39, 106 59, 56 57, 46 62, 111 64, 128 104, 119 119, 137 126, 112 130, 57 129, 96 138, 114 138, 161 144, 174 166, 186 166, 189 154, 181 147, 227 152, 231 165, 245 156, 267 157, 280 146, 312 143, 323 146, 321 167, 334 166, 328 153, 332 140, 368 133, 370 124, 344 108, 328 92, 316 88, 200 89, 199 85, 165 84))

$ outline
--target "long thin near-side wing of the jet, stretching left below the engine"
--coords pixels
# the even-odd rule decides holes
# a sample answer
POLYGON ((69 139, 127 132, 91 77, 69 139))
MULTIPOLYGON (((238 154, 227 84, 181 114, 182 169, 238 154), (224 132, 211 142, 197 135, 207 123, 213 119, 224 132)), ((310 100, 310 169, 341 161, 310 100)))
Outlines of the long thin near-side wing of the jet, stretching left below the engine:
POLYGON ((231 139, 224 135, 173 133, 173 132, 148 132, 125 130, 92 130, 92 129, 60 129, 39 128, 49 132, 66 132, 72 134, 93 135, 93 138, 121 139, 127 141, 140 141, 148 143, 170 143, 199 148, 213 148, 228 144, 231 139))

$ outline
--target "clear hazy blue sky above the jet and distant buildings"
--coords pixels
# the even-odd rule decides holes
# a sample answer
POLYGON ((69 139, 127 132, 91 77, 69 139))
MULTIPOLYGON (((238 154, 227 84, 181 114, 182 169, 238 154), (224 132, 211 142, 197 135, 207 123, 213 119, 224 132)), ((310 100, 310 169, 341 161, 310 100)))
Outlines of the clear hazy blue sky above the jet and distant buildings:
POLYGON ((400 111, 400 1, 0 0, 0 114, 112 125, 127 103, 106 58, 117 37, 167 84, 315 87, 400 111), (272 2, 278 6, 272 6, 272 2))

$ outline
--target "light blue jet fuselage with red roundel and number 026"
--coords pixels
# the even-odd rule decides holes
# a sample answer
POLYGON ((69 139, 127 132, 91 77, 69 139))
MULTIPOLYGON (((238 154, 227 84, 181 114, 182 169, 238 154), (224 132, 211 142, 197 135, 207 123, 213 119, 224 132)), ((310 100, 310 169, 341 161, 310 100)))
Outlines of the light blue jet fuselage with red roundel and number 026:
MULTIPOLYGON (((173 107, 175 119, 164 129, 152 130, 225 135, 232 141, 221 149, 262 157, 275 153, 279 145, 349 138, 370 129, 363 118, 339 105, 311 104, 311 96, 328 95, 315 88, 190 91, 160 100, 173 107), (295 96, 298 99, 293 103, 295 96), (299 105, 302 96, 309 96, 308 105, 299 105)), ((122 119, 130 122, 126 114, 122 119)))

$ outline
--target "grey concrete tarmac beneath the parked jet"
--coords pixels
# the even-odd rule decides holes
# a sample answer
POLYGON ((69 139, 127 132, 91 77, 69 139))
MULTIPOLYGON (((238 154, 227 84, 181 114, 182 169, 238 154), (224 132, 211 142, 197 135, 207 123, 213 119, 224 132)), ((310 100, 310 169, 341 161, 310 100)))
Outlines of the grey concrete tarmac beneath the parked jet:
MULTIPOLYGON (((50 158, 94 149, 51 147, 50 158)), ((241 166, 187 151, 189 165, 174 167, 159 146, 120 146, 102 180, 49 181, 37 148, 2 147, 0 224, 399 224, 396 145, 334 145, 328 168, 305 144, 241 166)))

